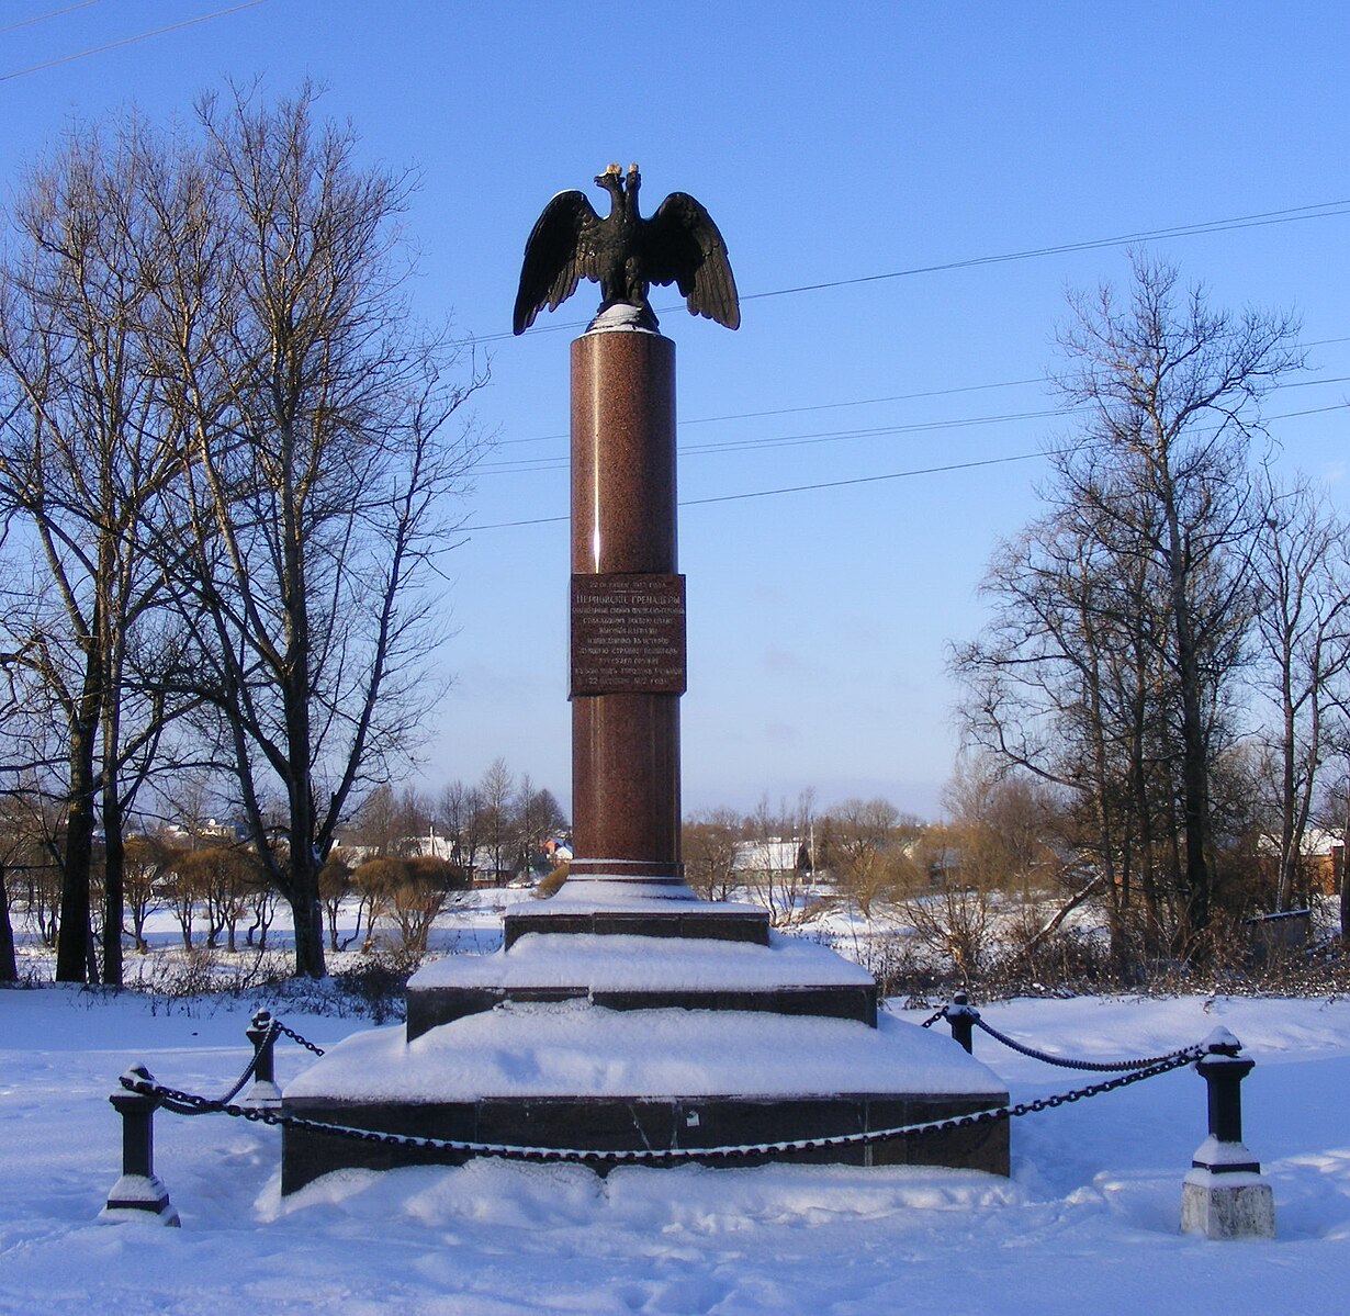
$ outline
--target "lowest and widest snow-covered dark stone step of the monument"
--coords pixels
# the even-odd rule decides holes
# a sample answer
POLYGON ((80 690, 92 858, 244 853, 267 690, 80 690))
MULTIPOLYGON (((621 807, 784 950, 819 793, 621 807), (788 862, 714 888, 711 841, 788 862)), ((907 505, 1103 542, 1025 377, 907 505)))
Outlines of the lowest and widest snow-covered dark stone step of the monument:
MULTIPOLYGON (((406 1042, 389 1029, 355 1034, 293 1078, 284 1097, 286 1109, 305 1119, 412 1138, 670 1149, 697 1159, 706 1149, 710 1165, 909 1163, 1008 1173, 1007 1120, 867 1138, 1007 1101, 1003 1082, 949 1037, 890 1016, 869 1029, 734 1011, 508 1004, 406 1042), (718 1150, 841 1135, 859 1141, 765 1147, 730 1159, 718 1150)), ((284 1131, 281 1190, 336 1169, 456 1165, 474 1154, 292 1126, 284 1131)))

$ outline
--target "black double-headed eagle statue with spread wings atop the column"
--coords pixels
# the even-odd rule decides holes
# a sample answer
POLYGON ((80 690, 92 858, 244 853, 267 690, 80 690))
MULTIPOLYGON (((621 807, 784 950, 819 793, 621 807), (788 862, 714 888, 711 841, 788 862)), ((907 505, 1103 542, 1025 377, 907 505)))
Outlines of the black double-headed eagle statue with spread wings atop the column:
POLYGON ((599 283, 601 312, 637 306, 640 323, 655 329, 647 289, 676 283, 690 314, 734 329, 741 323, 736 279, 726 243, 707 211, 687 192, 672 192, 651 219, 643 219, 636 165, 628 166, 626 178, 618 165, 610 165, 595 182, 610 198, 603 219, 575 190, 559 192, 539 216, 525 242, 514 331, 524 333, 544 306, 556 310, 583 278, 599 283))

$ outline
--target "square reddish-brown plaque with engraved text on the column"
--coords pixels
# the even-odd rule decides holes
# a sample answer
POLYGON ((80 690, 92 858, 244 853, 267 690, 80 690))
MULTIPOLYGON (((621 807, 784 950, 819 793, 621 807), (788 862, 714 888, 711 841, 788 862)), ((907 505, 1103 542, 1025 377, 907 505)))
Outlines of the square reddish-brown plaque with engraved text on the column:
POLYGON ((575 695, 684 694, 684 578, 574 575, 575 695))

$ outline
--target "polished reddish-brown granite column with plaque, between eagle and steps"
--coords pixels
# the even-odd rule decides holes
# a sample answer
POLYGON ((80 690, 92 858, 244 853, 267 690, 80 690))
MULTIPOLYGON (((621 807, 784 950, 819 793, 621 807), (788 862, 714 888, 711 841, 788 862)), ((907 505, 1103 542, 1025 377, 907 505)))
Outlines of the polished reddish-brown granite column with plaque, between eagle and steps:
POLYGON ((570 880, 683 895, 675 344, 632 312, 572 343, 570 880))

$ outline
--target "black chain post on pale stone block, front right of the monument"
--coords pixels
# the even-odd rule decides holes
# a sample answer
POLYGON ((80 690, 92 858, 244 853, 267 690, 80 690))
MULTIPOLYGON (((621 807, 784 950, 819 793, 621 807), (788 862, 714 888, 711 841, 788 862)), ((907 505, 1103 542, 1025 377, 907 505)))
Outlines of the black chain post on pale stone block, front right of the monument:
POLYGON ((1181 1231, 1206 1238, 1274 1238, 1274 1197, 1242 1142, 1242 1080, 1256 1061, 1215 1029, 1196 1069, 1208 1089, 1210 1136, 1196 1149, 1181 1186, 1181 1231))

